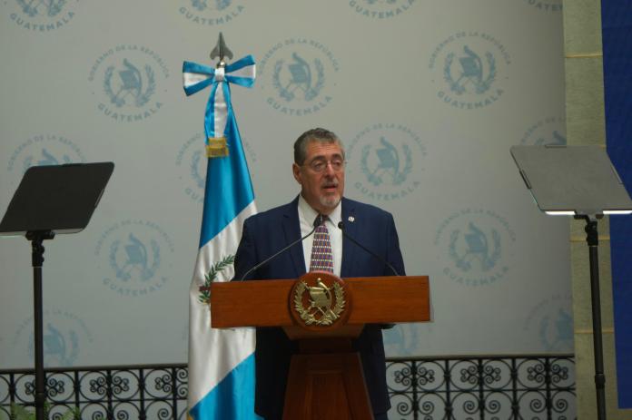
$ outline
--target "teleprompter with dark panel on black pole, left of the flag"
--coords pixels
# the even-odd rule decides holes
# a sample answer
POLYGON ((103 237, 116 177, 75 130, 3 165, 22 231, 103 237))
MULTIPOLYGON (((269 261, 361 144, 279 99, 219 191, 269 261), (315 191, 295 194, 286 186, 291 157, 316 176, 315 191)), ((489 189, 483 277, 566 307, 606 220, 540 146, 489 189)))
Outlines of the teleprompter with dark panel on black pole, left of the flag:
POLYGON ((85 163, 30 168, 20 182, 0 235, 24 235, 31 241, 35 327, 35 418, 44 419, 44 311, 42 266, 44 240, 56 233, 74 233, 87 226, 114 163, 85 163))

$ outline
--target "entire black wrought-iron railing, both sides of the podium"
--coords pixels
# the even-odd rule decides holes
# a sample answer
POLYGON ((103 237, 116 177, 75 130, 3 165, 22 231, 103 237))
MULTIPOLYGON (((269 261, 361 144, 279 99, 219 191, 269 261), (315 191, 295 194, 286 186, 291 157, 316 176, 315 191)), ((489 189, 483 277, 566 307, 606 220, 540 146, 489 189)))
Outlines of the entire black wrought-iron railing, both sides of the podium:
MULTIPOLYGON (((571 355, 390 358, 391 420, 571 420, 571 355)), ((33 406, 30 369, 0 370, 0 420, 33 406)), ((83 419, 186 419, 186 365, 46 369, 50 418, 74 407, 83 419)))

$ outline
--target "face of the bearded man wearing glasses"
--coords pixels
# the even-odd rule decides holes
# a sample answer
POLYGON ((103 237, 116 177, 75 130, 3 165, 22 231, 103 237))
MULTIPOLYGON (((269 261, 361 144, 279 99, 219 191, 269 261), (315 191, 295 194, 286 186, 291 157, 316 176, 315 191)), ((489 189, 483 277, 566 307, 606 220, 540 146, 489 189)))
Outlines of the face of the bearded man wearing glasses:
POLYGON ((340 143, 307 143, 301 165, 292 164, 294 178, 301 184, 301 195, 311 208, 330 214, 344 192, 344 156, 340 143))

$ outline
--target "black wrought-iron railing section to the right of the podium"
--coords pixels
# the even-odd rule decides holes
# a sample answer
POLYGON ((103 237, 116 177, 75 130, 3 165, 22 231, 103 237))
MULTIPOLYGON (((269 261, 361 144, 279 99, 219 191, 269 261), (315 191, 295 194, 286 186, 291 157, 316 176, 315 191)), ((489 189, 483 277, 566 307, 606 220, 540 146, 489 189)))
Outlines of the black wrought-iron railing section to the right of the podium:
POLYGON ((571 420, 575 363, 564 356, 387 361, 390 420, 571 420))

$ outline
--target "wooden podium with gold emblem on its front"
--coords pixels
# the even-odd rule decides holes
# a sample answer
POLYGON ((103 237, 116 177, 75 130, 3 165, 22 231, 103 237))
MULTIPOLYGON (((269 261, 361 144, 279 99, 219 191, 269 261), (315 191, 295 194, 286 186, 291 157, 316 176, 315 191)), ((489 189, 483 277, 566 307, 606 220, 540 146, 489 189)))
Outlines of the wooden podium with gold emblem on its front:
POLYGON ((299 340, 283 419, 373 418, 360 355, 365 324, 430 321, 427 276, 345 278, 309 272, 296 280, 212 283, 213 328, 282 327, 299 340))

